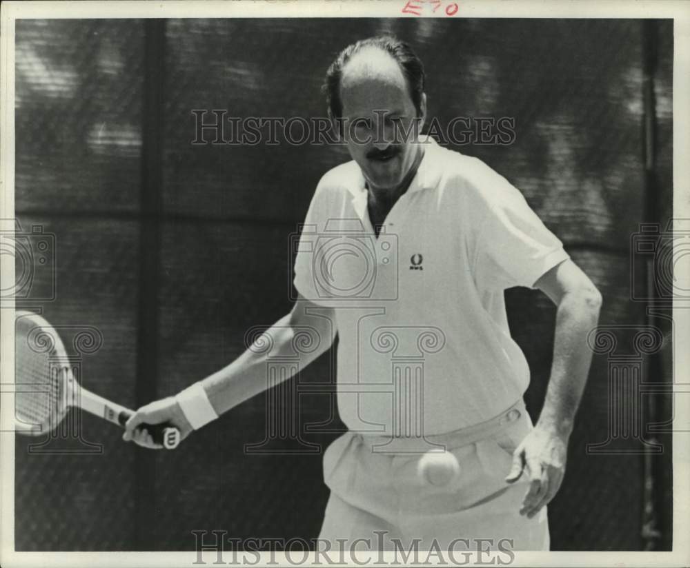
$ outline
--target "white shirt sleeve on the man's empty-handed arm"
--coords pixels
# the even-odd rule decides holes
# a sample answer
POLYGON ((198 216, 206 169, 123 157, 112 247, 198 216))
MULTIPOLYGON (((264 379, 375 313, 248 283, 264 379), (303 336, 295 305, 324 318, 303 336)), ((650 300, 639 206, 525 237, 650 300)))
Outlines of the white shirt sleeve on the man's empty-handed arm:
MULTIPOLYGON (((488 168, 488 167, 486 167, 488 168)), ((475 277, 482 287, 533 288, 555 265, 570 258, 563 243, 504 177, 484 176, 489 186, 476 187, 479 222, 475 277)))

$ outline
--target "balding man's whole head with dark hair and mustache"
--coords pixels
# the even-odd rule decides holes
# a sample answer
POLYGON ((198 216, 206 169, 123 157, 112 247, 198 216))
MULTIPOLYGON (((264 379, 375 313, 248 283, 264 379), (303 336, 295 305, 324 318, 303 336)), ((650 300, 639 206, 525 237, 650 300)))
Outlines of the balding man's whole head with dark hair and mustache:
POLYGON ((342 50, 324 85, 331 119, 375 189, 397 187, 420 151, 414 135, 426 116, 424 66, 393 37, 357 41, 342 50))

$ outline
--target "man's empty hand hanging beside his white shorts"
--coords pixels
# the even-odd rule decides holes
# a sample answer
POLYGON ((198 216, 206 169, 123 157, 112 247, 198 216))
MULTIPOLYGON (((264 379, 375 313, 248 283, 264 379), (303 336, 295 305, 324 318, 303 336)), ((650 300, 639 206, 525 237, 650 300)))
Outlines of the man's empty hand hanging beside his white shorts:
POLYGON ((567 453, 568 436, 540 425, 517 446, 506 481, 515 483, 525 469, 529 475, 529 490, 522 500, 521 515, 532 518, 553 499, 563 481, 567 453))

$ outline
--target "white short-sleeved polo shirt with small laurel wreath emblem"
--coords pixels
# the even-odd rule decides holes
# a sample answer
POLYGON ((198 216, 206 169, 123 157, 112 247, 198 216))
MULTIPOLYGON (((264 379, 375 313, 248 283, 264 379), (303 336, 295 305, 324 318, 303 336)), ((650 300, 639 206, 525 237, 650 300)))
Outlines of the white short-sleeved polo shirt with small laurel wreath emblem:
POLYGON ((363 434, 451 432, 515 403, 529 367, 504 290, 569 258, 506 179, 424 147, 378 239, 350 161, 319 181, 299 240, 295 287, 335 308, 339 414, 363 434))

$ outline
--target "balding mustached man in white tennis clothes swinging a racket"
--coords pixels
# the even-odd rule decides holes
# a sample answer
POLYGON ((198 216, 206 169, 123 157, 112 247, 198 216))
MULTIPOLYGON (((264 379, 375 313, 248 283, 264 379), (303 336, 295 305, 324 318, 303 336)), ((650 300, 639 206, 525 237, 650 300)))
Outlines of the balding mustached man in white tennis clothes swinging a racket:
MULTIPOLYGON (((348 432, 324 456, 331 498, 320 538, 548 549, 546 505, 564 474, 601 296, 506 179, 414 135, 426 95, 407 45, 377 37, 349 46, 325 90, 353 161, 319 182, 295 261, 299 298, 266 332, 272 356, 294 354, 299 330, 316 334, 301 367, 339 335, 348 432), (534 427, 522 403, 529 367, 504 306, 516 285, 558 305, 534 427)), ((166 421, 186 437, 266 389, 265 369, 265 350, 248 349, 139 409, 124 438, 155 447, 138 426, 166 421)))

